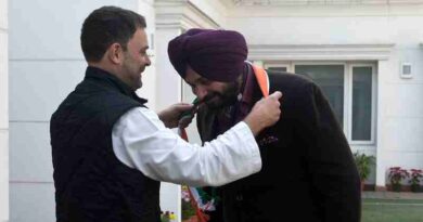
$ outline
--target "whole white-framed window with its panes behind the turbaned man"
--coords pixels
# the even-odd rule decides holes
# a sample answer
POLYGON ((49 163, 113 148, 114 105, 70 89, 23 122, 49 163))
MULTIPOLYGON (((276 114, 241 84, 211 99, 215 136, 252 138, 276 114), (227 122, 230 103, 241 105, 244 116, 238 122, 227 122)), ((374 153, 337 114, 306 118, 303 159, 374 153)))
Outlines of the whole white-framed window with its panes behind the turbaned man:
MULTIPOLYGON (((286 64, 287 62, 283 62, 286 64)), ((265 65, 280 70, 281 65, 265 65)), ((356 62, 291 62, 285 71, 312 79, 328 97, 351 144, 373 144, 375 122, 375 65, 356 62)))

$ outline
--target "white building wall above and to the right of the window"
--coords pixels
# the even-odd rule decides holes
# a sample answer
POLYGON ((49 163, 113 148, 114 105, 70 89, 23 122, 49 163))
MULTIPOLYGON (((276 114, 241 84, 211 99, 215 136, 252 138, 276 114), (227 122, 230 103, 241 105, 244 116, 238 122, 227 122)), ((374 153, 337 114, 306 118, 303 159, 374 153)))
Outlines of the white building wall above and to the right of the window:
POLYGON ((241 6, 229 13, 226 28, 243 32, 248 44, 390 44, 379 62, 377 185, 386 170, 400 166, 423 169, 422 4, 349 6, 241 6), (399 77, 400 63, 412 64, 412 79, 399 77), (383 66, 383 67, 382 67, 383 66))

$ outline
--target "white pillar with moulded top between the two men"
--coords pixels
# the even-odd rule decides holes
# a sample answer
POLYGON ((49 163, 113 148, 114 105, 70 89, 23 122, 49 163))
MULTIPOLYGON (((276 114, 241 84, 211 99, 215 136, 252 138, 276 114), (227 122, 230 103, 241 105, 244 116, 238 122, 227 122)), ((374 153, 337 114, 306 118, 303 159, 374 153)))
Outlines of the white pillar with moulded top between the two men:
MULTIPOLYGON (((200 1, 198 1, 200 2, 200 1)), ((201 1, 204 3, 203 1, 201 1)), ((162 110, 167 106, 187 100, 183 96, 182 79, 170 64, 167 54, 169 41, 189 28, 218 28, 217 22, 201 11, 198 6, 188 0, 155 0, 155 67, 156 95, 155 108, 162 110)), ((187 102, 187 101, 185 101, 187 102)), ((191 129, 192 131, 192 129, 191 129)), ((178 221, 181 221, 181 190, 179 185, 162 183, 162 210, 174 211, 178 221)))

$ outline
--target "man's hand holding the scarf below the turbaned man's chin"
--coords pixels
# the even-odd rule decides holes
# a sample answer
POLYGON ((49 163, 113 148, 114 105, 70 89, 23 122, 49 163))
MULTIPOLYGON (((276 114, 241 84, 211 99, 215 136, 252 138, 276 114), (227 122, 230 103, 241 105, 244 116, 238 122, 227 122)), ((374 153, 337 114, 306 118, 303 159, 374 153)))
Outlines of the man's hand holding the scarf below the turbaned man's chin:
POLYGON ((179 122, 179 118, 183 112, 188 112, 192 107, 192 104, 177 103, 158 113, 158 118, 165 123, 167 128, 176 128, 180 123, 182 125, 181 127, 184 128, 191 123, 192 118, 184 118, 183 122, 179 122))

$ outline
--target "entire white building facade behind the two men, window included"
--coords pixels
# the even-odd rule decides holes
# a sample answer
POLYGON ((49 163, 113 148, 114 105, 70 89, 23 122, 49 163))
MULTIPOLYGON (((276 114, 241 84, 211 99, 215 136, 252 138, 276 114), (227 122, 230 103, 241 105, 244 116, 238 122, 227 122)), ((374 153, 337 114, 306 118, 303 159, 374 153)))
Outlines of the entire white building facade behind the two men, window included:
MULTIPOLYGON (((389 167, 423 169, 422 0, 0 0, 0 221, 54 221, 49 119, 84 77, 84 18, 106 4, 146 18, 154 57, 138 93, 150 108, 193 99, 168 61, 171 38, 234 29, 249 61, 322 87, 352 152, 376 157, 368 184, 384 190, 389 167)), ((162 208, 179 216, 179 200, 164 183, 162 208)))

